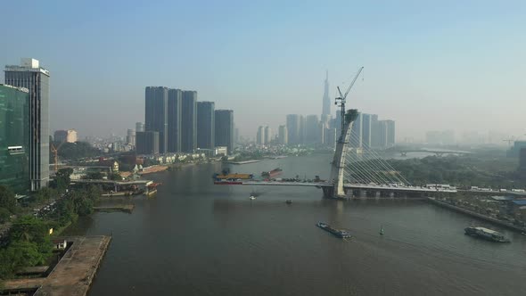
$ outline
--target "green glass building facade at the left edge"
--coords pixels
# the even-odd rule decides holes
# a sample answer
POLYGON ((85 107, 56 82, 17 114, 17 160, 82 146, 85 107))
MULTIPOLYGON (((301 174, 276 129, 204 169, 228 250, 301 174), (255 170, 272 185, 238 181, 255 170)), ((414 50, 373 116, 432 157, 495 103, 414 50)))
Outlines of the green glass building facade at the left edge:
POLYGON ((0 85, 0 185, 29 191, 29 92, 0 85))

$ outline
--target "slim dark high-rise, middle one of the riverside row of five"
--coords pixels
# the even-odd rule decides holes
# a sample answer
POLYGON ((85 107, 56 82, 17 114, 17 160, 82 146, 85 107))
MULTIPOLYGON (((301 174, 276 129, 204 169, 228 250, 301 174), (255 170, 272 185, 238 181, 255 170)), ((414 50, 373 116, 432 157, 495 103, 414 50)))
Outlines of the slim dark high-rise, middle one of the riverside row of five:
POLYGON ((197 148, 197 92, 183 91, 181 104, 181 151, 191 153, 197 148))

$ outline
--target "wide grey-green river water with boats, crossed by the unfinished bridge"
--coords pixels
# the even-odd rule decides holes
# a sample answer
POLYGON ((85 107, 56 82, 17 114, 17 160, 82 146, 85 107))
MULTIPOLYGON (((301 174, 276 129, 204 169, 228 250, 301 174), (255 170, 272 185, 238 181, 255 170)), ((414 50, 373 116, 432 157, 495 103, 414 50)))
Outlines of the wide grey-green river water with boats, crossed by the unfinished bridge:
MULTIPOLYGON (((327 177, 330 154, 264 160, 283 177, 327 177)), ((301 187, 213 185, 221 164, 148 177, 156 198, 96 213, 69 234, 112 234, 90 295, 523 295, 526 236, 425 201, 333 201, 301 187), (249 200, 252 190, 260 195, 249 200), (292 204, 285 200, 292 199, 292 204), (344 241, 316 222, 347 228, 344 241), (489 226, 513 243, 464 235, 489 226), (379 235, 380 226, 385 234, 379 235)))

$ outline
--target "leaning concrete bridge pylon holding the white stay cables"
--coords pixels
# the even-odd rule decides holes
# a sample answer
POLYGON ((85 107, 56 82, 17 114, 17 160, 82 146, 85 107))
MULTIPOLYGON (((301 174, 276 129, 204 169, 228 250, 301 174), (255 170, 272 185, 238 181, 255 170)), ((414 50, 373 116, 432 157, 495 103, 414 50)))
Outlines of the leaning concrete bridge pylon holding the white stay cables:
POLYGON ((333 164, 331 169, 331 181, 333 187, 324 188, 324 197, 329 198, 345 198, 346 192, 343 187, 345 181, 345 160, 347 157, 347 151, 349 148, 350 133, 352 130, 352 124, 358 117, 358 110, 350 109, 345 113, 345 116, 341 119, 343 121, 343 128, 341 129, 341 136, 336 143, 336 151, 334 152, 333 164))

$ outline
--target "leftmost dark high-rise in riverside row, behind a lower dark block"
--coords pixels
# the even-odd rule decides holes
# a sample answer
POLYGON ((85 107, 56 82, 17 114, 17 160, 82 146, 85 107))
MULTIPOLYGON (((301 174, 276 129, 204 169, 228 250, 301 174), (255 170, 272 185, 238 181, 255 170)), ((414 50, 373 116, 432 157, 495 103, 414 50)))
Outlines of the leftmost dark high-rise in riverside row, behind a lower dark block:
POLYGON ((168 152, 168 87, 147 86, 145 107, 145 131, 159 132, 159 152, 168 152))

